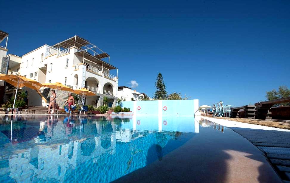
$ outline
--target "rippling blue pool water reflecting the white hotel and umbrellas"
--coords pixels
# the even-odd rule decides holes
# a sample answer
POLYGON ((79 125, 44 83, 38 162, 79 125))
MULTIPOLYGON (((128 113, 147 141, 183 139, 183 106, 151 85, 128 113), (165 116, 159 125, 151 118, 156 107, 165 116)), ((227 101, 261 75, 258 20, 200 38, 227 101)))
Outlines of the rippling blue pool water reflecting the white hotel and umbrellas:
POLYGON ((162 161, 199 128, 193 117, 2 115, 0 181, 111 182, 162 161))

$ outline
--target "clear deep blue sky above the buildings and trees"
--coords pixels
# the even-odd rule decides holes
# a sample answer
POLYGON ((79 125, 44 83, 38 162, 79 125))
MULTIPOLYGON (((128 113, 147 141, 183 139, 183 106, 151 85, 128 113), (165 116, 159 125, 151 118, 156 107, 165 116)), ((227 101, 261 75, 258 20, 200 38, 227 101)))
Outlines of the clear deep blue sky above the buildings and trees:
POLYGON ((110 54, 119 86, 236 106, 290 87, 290 1, 4 1, 9 53, 79 35, 110 54))

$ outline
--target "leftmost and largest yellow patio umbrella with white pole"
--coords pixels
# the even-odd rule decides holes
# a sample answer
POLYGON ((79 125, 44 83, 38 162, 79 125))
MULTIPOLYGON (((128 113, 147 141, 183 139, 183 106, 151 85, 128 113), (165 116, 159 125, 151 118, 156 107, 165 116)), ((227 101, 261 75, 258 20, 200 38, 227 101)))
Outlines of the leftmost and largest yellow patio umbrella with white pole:
POLYGON ((18 88, 25 86, 33 90, 39 90, 42 87, 41 83, 32 79, 28 79, 24 76, 0 74, 0 80, 6 81, 7 83, 11 85, 16 86, 16 93, 15 93, 13 108, 15 106, 15 100, 16 100, 18 88))

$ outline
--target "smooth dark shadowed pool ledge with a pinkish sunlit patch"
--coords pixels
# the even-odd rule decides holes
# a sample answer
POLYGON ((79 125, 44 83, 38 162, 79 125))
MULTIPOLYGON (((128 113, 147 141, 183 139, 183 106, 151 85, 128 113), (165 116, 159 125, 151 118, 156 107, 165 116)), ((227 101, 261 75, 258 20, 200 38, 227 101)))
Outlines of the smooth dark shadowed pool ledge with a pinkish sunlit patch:
MULTIPOLYGON (((208 121, 201 119, 201 123, 208 121)), ((200 128, 199 134, 161 161, 114 182, 282 182, 248 140, 228 128, 224 134, 213 131, 200 128)))

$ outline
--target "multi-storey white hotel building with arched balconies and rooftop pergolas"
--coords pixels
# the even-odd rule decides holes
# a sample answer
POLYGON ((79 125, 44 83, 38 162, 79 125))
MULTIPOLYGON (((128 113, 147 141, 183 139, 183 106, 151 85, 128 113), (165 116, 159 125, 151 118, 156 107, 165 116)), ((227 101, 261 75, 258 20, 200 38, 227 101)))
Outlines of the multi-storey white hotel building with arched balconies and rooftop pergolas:
MULTIPOLYGON (((41 46, 22 57, 12 54, 7 56, 10 56, 8 74, 18 72, 40 83, 61 82, 73 89, 85 87, 97 94, 86 97, 85 104, 103 105, 103 97, 106 96, 109 98, 109 106, 115 105, 118 69, 110 64, 110 56, 107 53, 79 36, 53 46, 41 46)), ((42 89, 38 93, 29 90, 28 105, 45 106, 49 97, 47 90, 49 89, 42 89)), ((58 91, 57 102, 62 103, 67 93, 58 91)))

